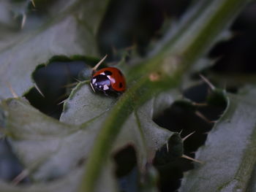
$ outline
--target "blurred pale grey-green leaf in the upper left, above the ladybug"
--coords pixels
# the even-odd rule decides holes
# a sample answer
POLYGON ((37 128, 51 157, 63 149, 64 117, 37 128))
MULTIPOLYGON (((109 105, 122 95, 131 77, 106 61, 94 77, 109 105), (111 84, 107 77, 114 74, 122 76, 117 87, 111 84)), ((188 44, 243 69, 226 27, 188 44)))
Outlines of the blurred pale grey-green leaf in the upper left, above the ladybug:
POLYGON ((59 1, 52 11, 58 5, 62 9, 51 15, 52 18, 49 16, 50 22, 40 20, 41 26, 33 30, 2 34, 0 96, 12 96, 8 85, 22 96, 33 86, 31 73, 36 66, 53 55, 97 55, 95 35, 107 4, 108 1, 59 1))

